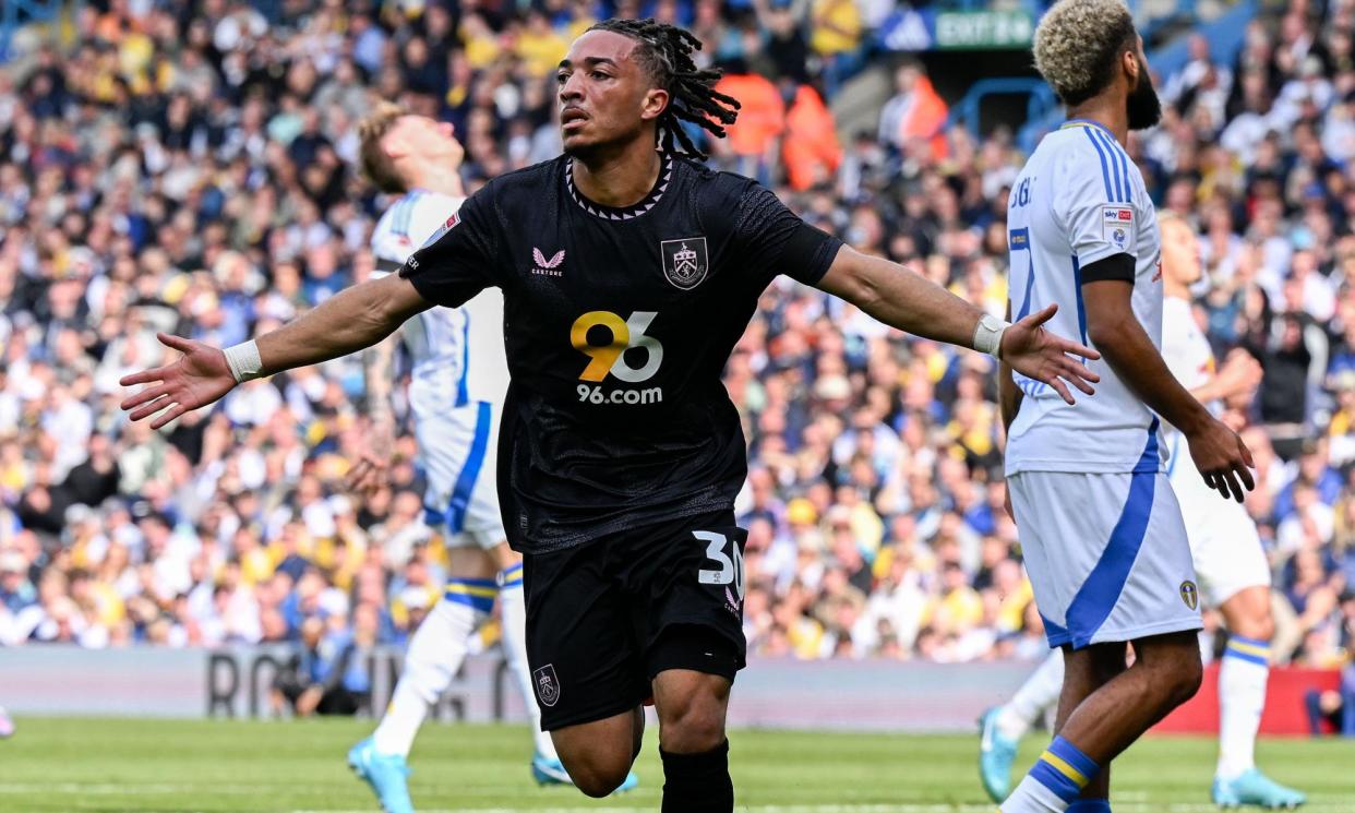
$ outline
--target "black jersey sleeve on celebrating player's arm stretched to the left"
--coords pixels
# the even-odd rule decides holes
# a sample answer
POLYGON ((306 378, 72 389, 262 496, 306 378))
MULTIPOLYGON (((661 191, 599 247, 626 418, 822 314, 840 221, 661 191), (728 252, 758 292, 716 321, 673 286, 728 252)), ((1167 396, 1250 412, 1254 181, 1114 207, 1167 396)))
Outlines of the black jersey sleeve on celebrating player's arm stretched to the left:
POLYGON ((486 184, 447 214, 423 248, 400 267, 400 275, 424 299, 458 308, 484 289, 500 285, 499 232, 493 184, 486 184))

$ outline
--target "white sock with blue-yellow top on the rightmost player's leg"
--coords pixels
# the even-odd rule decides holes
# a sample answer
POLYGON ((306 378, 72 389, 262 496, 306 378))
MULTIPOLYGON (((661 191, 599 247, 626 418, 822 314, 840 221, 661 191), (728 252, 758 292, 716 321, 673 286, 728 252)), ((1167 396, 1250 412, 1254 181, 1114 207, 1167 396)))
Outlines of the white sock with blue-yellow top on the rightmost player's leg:
POLYGON ((1266 707, 1270 642, 1230 635, 1218 669, 1218 775, 1226 779, 1256 766, 1256 730, 1266 707))

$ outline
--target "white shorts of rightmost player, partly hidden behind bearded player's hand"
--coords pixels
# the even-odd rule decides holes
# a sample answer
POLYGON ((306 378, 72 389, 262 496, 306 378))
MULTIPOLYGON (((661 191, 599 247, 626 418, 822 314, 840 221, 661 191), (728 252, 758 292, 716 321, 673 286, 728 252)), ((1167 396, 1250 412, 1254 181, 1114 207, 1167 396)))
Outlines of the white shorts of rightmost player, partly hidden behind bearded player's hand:
POLYGON ((1205 485, 1180 434, 1168 446, 1168 478, 1182 505, 1202 600, 1218 607, 1249 587, 1268 588, 1270 562, 1247 508, 1205 485))

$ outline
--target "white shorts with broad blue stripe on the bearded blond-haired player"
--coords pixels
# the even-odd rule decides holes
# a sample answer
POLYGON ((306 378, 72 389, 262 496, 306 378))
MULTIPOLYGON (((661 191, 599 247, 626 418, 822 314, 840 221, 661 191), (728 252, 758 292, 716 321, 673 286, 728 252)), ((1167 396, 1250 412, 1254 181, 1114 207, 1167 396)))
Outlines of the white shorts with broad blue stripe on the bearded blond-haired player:
POLYGON ((1022 472, 1007 484, 1051 648, 1201 629, 1190 543, 1165 474, 1022 472))

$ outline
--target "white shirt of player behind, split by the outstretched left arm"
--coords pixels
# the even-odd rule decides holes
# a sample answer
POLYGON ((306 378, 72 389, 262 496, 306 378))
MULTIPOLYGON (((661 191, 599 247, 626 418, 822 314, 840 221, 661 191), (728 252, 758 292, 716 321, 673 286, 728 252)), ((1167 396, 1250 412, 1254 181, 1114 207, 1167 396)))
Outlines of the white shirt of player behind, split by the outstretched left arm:
MULTIPOLYGON (((382 272, 393 272, 455 217, 465 198, 412 190, 386 210, 371 233, 382 272)), ((476 401, 503 402, 508 359, 503 339, 503 294, 486 289, 461 308, 435 306, 401 328, 409 350, 409 404, 428 419, 476 401)))

